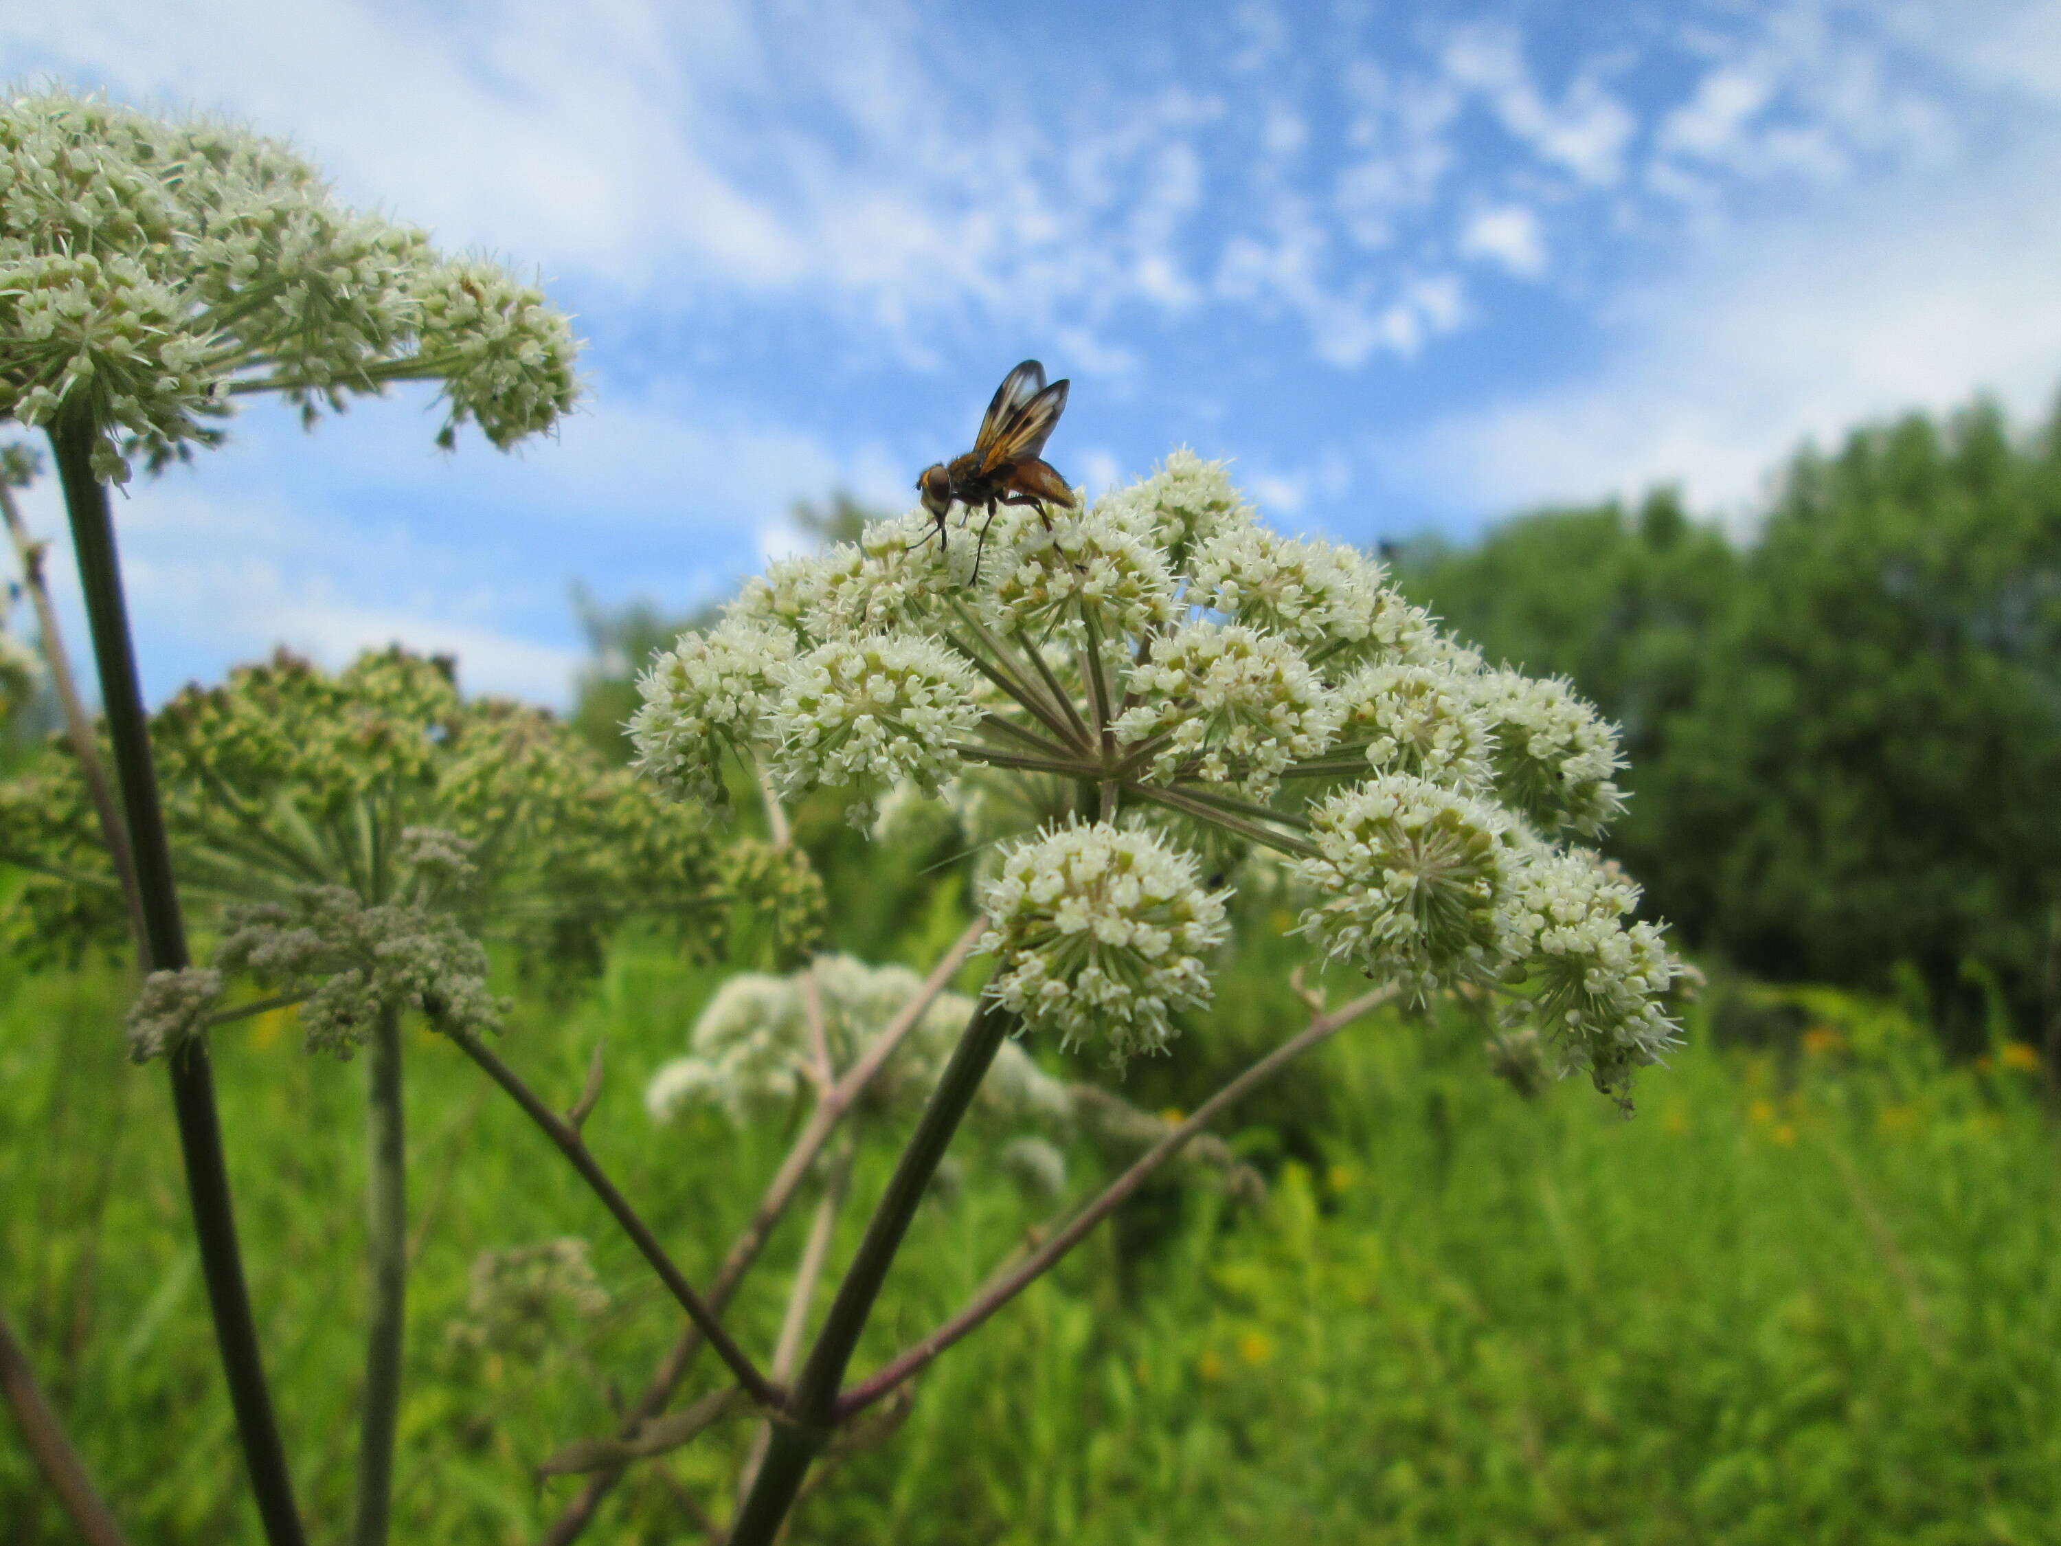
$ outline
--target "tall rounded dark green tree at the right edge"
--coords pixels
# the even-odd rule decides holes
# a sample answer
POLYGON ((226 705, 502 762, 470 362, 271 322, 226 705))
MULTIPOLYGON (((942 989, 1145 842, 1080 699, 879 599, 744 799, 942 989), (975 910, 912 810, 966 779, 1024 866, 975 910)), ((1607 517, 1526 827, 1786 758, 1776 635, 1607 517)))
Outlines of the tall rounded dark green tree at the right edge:
POLYGON ((1993 973, 2032 1024, 2061 895, 2061 421, 2018 443, 1979 402, 1799 453, 1643 787, 1657 897, 1742 965, 1908 961, 1964 1041, 1993 973))

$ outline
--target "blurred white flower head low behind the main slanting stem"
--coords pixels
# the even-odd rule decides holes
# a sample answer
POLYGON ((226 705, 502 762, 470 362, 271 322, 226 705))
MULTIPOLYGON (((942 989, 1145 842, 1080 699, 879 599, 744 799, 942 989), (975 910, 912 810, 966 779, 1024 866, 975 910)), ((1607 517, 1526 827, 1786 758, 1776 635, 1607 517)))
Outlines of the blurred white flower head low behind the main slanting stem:
MULTIPOLYGON (((744 1125, 785 1113, 820 1078, 812 1016, 820 1016, 831 1076, 849 1070, 915 1002, 923 983, 907 967, 872 967, 853 956, 818 956, 787 977, 730 977, 688 1035, 688 1055, 664 1064, 645 1086, 645 1109, 668 1121, 692 1105, 721 1107, 744 1125)), ((940 994, 866 1086, 870 1109, 919 1105, 965 1031, 973 1002, 940 994)), ((1045 1074, 1014 1041, 1004 1043, 981 1086, 981 1107, 998 1121, 1063 1123, 1066 1084, 1045 1074)))

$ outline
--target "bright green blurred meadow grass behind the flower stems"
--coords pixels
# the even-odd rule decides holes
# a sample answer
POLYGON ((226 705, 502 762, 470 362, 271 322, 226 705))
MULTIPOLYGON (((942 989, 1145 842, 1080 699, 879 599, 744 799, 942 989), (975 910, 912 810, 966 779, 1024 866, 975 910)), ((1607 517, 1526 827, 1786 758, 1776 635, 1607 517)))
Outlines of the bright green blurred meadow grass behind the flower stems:
MULTIPOLYGON (((1276 977, 1263 952, 1226 977, 1226 1039, 1288 1029, 1276 977)), ((783 1144, 643 1115, 643 1078, 711 983, 627 948, 505 1047, 567 1101, 606 1037, 589 1136, 699 1276, 783 1144)), ((138 1542, 256 1542, 163 1070, 122 1062, 120 998, 113 973, 0 985, 0 1295, 138 1542)), ((1892 1006, 1793 998, 1799 1043, 1698 1037, 1649 1070, 1634 1121, 1573 1082, 1521 1103, 1459 1020, 1356 1027, 1247 1113, 1239 1142, 1274 1171, 1263 1212, 1200 1187, 1142 1198, 940 1360, 793 1540, 2061 1540, 2061 1173, 2034 1076, 1939 1068, 1892 1006)), ((1193 1101, 1193 1070, 1222 1062, 1206 1037, 1129 1093, 1193 1101)), ((532 1466, 608 1429, 610 1387, 637 1389, 676 1313, 470 1064, 420 1033, 408 1053, 420 1253, 396 1540, 532 1540, 573 1488, 538 1488, 532 1466), (559 1235, 594 1243, 606 1313, 495 1350, 451 1338, 480 1251, 559 1235)), ((311 1534, 336 1540, 361 1070, 305 1057, 276 1020, 221 1033, 216 1066, 280 1422, 311 1534)), ((861 1171, 845 1249, 886 1158, 861 1171)), ((1094 1158, 1074 1158, 1084 1185, 1094 1158)), ((857 1367, 956 1307, 1037 1216, 969 1165, 917 1220, 857 1367)), ((734 1311, 752 1348, 773 1342, 800 1233, 734 1311)), ((672 1476, 719 1515, 746 1441, 721 1429, 672 1476)), ((0 1538, 70 1538, 12 1443, 0 1538)), ((589 1538, 695 1536, 645 1468, 589 1538)))

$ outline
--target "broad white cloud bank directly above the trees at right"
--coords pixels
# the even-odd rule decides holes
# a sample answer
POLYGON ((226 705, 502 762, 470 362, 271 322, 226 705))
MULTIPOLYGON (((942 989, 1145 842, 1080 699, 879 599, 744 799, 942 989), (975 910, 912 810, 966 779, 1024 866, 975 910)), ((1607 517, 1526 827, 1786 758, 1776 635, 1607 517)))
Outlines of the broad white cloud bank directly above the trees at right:
POLYGON ((1739 229, 1620 299, 1603 363, 1377 447, 1455 513, 1682 480, 1735 517, 1803 437, 1974 392, 2042 414, 2061 379, 2061 140, 1739 229))

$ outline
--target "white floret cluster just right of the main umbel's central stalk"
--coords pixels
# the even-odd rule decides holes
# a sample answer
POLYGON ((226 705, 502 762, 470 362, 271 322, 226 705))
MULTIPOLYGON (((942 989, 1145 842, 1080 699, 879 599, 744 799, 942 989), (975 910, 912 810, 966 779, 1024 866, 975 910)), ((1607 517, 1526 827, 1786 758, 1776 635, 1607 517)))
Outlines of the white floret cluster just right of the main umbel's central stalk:
POLYGON ((1237 623, 1189 623, 1129 672, 1144 699, 1117 719, 1117 742, 1152 742, 1152 773, 1232 783, 1263 800, 1296 761, 1338 734, 1338 703, 1286 639, 1237 623))

